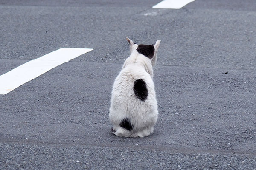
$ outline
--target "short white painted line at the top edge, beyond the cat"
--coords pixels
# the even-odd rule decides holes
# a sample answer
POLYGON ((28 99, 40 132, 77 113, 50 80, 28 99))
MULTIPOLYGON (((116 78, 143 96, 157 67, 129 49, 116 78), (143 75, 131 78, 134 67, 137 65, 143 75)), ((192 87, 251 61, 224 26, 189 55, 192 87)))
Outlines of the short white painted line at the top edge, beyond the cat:
POLYGON ((180 9, 186 4, 195 0, 163 0, 152 8, 180 9))

